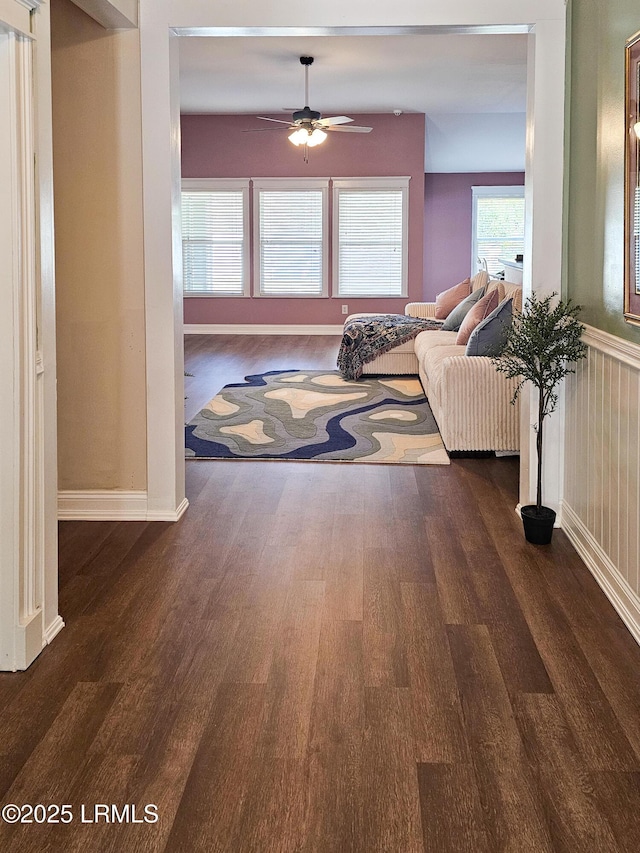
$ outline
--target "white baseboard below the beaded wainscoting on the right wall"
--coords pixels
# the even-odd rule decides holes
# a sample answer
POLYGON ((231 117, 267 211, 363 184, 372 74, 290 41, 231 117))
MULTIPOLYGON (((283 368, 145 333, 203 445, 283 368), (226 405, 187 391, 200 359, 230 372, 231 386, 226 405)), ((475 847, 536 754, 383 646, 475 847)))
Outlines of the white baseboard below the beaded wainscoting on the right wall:
POLYGON ((590 530, 566 503, 562 529, 584 560, 602 591, 640 645, 640 599, 594 539, 590 530))

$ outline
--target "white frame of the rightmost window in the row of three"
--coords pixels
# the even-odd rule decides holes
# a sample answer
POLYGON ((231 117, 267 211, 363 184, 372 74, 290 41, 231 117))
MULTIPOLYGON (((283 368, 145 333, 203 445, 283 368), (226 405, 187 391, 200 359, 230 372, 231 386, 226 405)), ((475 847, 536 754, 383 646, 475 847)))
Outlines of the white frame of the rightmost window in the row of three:
POLYGON ((410 175, 389 177, 335 178, 332 180, 331 233, 332 269, 331 296, 333 299, 406 299, 409 295, 409 182, 410 175), (363 193, 377 190, 402 192, 402 271, 400 293, 343 293, 340 290, 340 192, 359 190, 363 193))

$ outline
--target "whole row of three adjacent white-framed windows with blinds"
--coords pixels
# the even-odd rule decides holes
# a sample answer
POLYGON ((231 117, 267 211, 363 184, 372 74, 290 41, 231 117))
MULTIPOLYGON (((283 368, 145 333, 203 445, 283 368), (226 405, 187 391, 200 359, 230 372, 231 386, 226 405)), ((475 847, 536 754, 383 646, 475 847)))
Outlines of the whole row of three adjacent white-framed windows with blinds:
POLYGON ((405 297, 408 209, 407 177, 184 179, 184 295, 327 297, 331 255, 333 297, 405 297))

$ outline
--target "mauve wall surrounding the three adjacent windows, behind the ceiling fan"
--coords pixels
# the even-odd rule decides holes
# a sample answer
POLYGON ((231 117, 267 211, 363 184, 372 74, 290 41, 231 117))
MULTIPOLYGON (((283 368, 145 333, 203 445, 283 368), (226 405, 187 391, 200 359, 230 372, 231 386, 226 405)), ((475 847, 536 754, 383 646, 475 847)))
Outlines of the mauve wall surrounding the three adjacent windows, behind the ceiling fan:
MULTIPOLYGON (((344 298, 214 298, 184 300, 188 324, 341 325, 343 303, 349 312, 402 312, 406 302, 422 299, 424 234, 424 115, 356 115, 355 124, 368 134, 332 133, 318 148, 302 151, 287 140, 286 131, 244 133, 265 128, 253 115, 184 115, 182 176, 184 178, 380 177, 410 175, 409 295, 401 299, 344 298)), ((282 118, 275 116, 274 118, 282 118)), ((286 117, 286 116, 285 116, 286 117)), ((329 267, 331 270, 331 267, 329 267)), ((331 279, 330 279, 331 282, 331 279)))

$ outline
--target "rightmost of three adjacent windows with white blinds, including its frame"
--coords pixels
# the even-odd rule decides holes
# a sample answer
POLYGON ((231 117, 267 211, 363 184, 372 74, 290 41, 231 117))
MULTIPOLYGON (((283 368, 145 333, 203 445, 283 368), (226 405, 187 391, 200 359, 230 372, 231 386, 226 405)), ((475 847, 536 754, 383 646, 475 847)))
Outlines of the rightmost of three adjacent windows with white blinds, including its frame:
POLYGON ((333 182, 334 294, 406 296, 409 178, 333 182))

